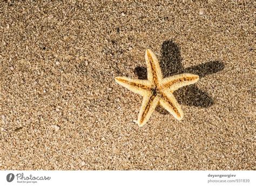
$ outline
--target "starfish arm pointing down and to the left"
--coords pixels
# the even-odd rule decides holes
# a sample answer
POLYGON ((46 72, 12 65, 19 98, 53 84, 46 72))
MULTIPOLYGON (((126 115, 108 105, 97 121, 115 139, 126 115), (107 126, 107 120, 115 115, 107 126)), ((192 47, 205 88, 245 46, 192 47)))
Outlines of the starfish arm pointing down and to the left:
POLYGON ((145 123, 150 119, 150 116, 154 112, 158 102, 159 97, 156 94, 149 93, 144 96, 138 116, 138 124, 140 127, 145 125, 145 123))

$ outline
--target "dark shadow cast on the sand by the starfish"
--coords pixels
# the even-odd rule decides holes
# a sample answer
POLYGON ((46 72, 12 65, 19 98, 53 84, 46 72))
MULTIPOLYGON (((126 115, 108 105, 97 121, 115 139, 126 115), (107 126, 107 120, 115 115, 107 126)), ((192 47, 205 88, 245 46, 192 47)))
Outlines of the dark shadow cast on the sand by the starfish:
MULTIPOLYGON (((160 67, 164 78, 181 73, 197 74, 200 78, 203 78, 206 75, 223 70, 224 64, 220 61, 210 61, 197 66, 184 68, 181 64, 179 46, 173 40, 166 40, 161 48, 160 67)), ((138 75, 139 79, 147 79, 146 67, 138 66, 134 69, 134 73, 138 75)), ((180 104, 197 107, 209 107, 213 104, 213 99, 210 95, 200 90, 194 84, 179 88, 173 94, 180 104)), ((156 110, 162 114, 168 114, 160 106, 156 110)))

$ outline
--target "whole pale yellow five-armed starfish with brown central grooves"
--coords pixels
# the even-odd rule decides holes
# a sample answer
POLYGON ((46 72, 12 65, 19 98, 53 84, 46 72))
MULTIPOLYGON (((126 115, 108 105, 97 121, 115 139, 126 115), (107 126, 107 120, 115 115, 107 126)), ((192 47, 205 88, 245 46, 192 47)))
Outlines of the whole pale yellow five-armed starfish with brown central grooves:
POLYGON ((147 80, 131 79, 127 77, 116 77, 118 84, 124 86, 130 91, 143 96, 142 107, 139 111, 137 123, 140 127, 150 119, 154 109, 160 104, 174 118, 183 119, 183 111, 175 99, 173 92, 178 88, 194 84, 199 80, 199 76, 190 73, 173 75, 169 78, 163 78, 161 68, 154 53, 146 50, 145 54, 147 65, 147 80))

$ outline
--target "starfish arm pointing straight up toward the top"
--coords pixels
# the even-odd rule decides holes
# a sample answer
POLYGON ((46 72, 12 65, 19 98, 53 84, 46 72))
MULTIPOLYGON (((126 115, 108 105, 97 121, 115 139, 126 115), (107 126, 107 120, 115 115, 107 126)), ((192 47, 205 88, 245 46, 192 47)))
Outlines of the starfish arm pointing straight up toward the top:
POLYGON ((159 82, 163 79, 163 76, 157 57, 150 49, 147 49, 145 59, 147 64, 147 79, 155 86, 158 86, 159 82))

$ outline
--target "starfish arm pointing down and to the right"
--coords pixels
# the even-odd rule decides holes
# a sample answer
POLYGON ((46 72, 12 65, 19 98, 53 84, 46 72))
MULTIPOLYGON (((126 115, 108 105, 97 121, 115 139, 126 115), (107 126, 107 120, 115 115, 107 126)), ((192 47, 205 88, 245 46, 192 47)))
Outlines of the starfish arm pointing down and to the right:
POLYGON ((162 107, 164 107, 168 112, 170 112, 174 118, 177 120, 181 120, 184 116, 180 105, 177 100, 174 98, 174 95, 169 91, 161 91, 160 92, 160 100, 159 103, 162 107))

